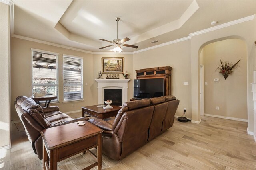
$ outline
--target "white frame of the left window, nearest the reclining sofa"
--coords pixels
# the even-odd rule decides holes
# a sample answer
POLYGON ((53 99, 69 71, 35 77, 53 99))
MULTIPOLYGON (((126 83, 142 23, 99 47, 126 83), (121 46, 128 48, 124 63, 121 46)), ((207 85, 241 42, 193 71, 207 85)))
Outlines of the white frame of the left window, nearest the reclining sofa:
MULTIPOLYGON (((56 55, 56 83, 57 84, 51 84, 51 85, 56 85, 58 87, 58 90, 56 90, 57 99, 52 100, 51 103, 58 103, 59 102, 59 87, 60 87, 59 86, 59 66, 58 66, 59 65, 59 53, 31 48, 31 92, 33 92, 33 90, 32 90, 32 86, 33 86, 33 51, 36 51, 39 53, 48 53, 51 55, 56 55)), ((34 94, 32 93, 32 96, 33 95, 34 94)))

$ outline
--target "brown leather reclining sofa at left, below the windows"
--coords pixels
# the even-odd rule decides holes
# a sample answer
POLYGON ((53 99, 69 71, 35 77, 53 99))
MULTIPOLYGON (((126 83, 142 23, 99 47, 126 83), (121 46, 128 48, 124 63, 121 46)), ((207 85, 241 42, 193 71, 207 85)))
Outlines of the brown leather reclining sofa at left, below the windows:
POLYGON ((42 159, 43 145, 40 131, 50 127, 65 125, 76 121, 88 121, 87 117, 73 119, 59 111, 59 107, 42 108, 34 100, 26 96, 18 96, 14 101, 16 111, 25 128, 32 148, 39 159, 42 159))

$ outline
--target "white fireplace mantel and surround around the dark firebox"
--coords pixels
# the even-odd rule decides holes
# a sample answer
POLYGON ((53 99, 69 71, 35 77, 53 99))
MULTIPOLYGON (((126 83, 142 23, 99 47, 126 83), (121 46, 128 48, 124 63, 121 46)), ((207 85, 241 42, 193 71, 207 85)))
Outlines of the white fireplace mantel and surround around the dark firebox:
POLYGON ((122 89, 122 104, 128 101, 128 82, 130 79, 95 79, 98 83, 98 104, 104 100, 104 89, 122 89))

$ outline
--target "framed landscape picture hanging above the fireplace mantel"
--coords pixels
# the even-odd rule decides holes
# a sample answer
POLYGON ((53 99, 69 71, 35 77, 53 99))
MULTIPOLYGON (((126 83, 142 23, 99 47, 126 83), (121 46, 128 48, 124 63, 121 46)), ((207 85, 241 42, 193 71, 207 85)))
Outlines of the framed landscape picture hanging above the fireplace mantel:
POLYGON ((102 57, 102 73, 123 73, 124 58, 123 57, 102 57))

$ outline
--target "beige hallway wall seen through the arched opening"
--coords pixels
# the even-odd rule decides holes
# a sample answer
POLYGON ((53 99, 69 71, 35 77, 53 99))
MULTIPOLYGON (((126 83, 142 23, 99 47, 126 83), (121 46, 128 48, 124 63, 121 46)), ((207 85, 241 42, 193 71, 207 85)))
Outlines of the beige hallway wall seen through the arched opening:
POLYGON ((208 82, 208 85, 204 85, 204 114, 247 120, 245 42, 240 39, 217 41, 206 45, 203 53, 204 82, 208 82), (216 70, 220 59, 233 64, 241 59, 238 63, 239 67, 232 70, 234 72, 227 80, 216 70), (214 78, 219 78, 219 81, 214 81, 214 78), (220 109, 216 110, 216 106, 220 109))

